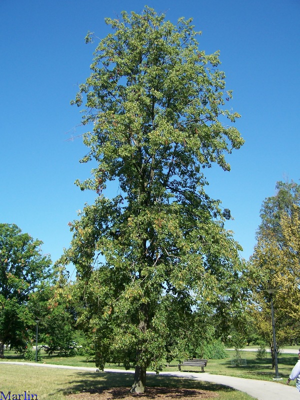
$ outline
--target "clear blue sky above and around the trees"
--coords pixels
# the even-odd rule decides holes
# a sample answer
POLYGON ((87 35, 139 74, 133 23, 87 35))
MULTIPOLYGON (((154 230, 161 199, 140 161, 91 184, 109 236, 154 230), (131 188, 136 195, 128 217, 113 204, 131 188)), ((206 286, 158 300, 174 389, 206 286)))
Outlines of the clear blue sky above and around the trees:
POLYGON ((207 171, 207 189, 230 208, 227 228, 248 258, 261 202, 277 180, 299 179, 298 0, 0 0, 0 222, 41 239, 53 261, 69 245, 68 222, 94 198, 73 184, 90 170, 78 163, 87 149, 69 105, 90 73, 96 43, 84 36, 104 37, 105 16, 145 4, 173 23, 193 17, 199 48, 220 50, 245 144, 227 157, 230 172, 207 171))

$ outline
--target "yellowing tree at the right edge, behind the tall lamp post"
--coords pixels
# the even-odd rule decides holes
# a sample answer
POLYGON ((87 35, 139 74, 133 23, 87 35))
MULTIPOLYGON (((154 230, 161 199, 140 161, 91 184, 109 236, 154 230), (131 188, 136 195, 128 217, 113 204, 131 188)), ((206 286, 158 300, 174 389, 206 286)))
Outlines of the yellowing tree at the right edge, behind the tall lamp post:
POLYGON ((299 336, 299 194, 293 181, 277 182, 275 196, 264 200, 257 230, 257 244, 250 258, 255 311, 254 323, 262 339, 272 350, 269 296, 274 287, 276 341, 278 346, 299 336))

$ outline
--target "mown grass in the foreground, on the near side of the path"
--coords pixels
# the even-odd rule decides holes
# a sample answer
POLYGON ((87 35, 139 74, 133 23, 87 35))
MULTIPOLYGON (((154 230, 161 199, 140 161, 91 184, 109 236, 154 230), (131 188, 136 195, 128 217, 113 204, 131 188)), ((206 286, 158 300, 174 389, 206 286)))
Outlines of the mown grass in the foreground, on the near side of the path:
MULTIPOLYGON (((9 390, 17 394, 26 390, 27 393, 36 394, 38 400, 64 400, 70 393, 82 390, 88 393, 108 387, 127 386, 129 390, 133 378, 132 373, 83 372, 6 363, 0 363, 0 376, 0 391, 4 395, 9 390)), ((147 387, 151 386, 210 390, 217 392, 219 400, 252 399, 251 396, 226 386, 186 378, 148 375, 147 387)))

